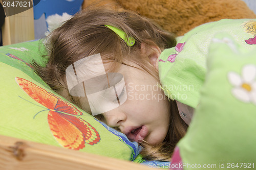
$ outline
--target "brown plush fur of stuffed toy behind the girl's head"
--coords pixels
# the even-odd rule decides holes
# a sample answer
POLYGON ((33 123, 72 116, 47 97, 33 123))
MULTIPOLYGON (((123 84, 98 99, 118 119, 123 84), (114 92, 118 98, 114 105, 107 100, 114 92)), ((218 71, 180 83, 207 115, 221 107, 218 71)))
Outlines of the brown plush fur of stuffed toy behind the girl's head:
POLYGON ((151 18, 164 30, 177 36, 211 21, 256 18, 256 14, 242 0, 84 0, 82 9, 92 3, 117 3, 115 8, 118 10, 132 10, 151 18))

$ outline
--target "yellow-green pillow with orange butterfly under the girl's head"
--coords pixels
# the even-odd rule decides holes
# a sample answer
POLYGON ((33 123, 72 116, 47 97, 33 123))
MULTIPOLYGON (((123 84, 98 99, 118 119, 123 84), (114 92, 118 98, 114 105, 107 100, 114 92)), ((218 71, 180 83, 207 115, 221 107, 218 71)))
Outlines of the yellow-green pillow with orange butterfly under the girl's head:
POLYGON ((38 44, 37 40, 0 47, 0 134, 135 160, 137 142, 63 99, 33 72, 32 59, 45 61, 38 44))

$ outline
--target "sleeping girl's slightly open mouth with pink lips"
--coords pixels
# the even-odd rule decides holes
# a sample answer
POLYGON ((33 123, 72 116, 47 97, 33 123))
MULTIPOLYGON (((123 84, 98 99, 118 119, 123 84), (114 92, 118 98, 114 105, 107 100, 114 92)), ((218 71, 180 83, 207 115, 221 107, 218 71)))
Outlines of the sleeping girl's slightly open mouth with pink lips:
POLYGON ((125 135, 130 140, 133 140, 133 141, 136 141, 136 142, 144 140, 144 138, 147 136, 147 133, 148 133, 148 129, 144 125, 141 126, 141 127, 138 127, 138 128, 130 128, 129 131, 130 132, 125 133, 125 135))

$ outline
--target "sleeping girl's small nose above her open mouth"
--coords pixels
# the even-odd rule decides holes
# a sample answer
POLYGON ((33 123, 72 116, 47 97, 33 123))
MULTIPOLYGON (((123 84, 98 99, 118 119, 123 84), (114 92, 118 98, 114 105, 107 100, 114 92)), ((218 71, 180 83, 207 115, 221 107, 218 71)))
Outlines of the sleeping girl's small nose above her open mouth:
POLYGON ((111 111, 103 113, 106 124, 110 127, 119 127, 126 120, 126 114, 119 111, 118 109, 113 109, 111 111))

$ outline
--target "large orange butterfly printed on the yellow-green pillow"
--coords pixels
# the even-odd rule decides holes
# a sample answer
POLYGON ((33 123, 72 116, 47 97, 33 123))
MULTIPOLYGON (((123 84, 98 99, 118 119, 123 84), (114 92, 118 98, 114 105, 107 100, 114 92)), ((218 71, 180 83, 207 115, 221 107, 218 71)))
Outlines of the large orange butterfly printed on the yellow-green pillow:
POLYGON ((76 107, 30 81, 16 78, 16 82, 32 99, 49 110, 49 127, 64 148, 79 150, 86 143, 93 145, 100 141, 97 130, 79 117, 83 113, 76 107))

